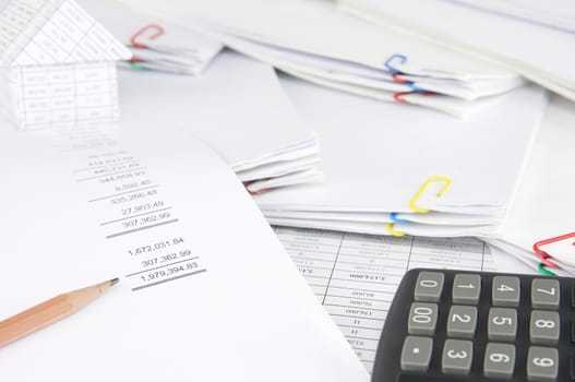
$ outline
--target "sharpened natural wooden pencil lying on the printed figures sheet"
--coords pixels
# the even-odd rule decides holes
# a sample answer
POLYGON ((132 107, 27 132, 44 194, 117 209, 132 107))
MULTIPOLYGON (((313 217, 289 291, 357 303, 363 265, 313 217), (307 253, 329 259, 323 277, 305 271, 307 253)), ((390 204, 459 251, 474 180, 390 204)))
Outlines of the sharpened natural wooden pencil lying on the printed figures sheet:
POLYGON ((0 322, 0 347, 82 309, 119 282, 113 278, 86 288, 58 295, 0 322))

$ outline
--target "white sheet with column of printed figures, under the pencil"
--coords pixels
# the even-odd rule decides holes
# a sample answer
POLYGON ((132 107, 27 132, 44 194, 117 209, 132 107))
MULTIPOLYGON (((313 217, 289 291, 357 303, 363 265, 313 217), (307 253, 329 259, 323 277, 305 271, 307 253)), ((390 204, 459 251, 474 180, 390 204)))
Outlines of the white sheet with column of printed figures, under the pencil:
POLYGON ((120 277, 0 349, 0 380, 368 381, 242 184, 151 122, 0 129, 0 320, 120 277))

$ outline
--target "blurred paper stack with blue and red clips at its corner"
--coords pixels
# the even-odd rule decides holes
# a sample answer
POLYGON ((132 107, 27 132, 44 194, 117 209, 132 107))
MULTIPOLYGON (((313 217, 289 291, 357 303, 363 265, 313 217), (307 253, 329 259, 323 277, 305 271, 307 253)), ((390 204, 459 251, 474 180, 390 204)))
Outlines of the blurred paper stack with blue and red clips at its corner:
POLYGON ((330 1, 124 1, 181 25, 202 25, 292 75, 380 100, 465 116, 523 84, 513 72, 356 20, 330 1))

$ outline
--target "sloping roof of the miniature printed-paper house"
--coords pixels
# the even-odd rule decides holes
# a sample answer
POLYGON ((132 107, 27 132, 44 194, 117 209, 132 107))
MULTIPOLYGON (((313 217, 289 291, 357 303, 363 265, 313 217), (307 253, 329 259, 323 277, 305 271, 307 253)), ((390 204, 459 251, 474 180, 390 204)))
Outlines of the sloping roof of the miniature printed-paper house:
POLYGON ((131 57, 128 48, 74 0, 11 0, 0 10, 0 67, 131 57))

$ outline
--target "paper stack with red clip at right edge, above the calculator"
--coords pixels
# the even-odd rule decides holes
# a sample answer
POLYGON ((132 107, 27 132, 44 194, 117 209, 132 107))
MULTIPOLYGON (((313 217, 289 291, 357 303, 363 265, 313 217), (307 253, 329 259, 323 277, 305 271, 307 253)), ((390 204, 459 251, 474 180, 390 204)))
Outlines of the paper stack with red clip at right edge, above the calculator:
POLYGON ((517 196, 494 232, 493 243, 517 258, 537 264, 541 261, 534 244, 550 258, 549 271, 558 273, 555 263, 575 275, 575 105, 555 97, 550 104, 534 154, 517 196), (571 234, 571 235, 570 235, 571 234), (560 238, 562 237, 563 238, 560 238), (548 240, 558 238, 556 240, 548 240))

